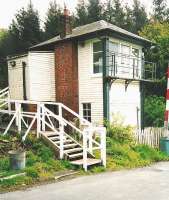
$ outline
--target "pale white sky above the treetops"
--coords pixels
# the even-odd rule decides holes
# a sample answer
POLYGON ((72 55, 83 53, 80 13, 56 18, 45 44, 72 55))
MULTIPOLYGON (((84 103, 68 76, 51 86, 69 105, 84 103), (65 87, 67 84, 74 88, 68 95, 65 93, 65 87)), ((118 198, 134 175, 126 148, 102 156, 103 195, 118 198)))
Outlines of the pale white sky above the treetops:
MULTIPOLYGON (((22 7, 26 7, 30 0, 0 0, 0 28, 8 28, 16 12, 22 7)), ((106 0, 104 0, 106 1, 106 0)), ((153 0, 140 0, 146 6, 148 12, 151 10, 153 0)), ((45 19, 45 14, 50 0, 32 0, 34 7, 39 11, 40 19, 45 19)), ((56 0, 61 6, 65 4, 70 10, 74 10, 78 0, 56 0)), ((123 2, 132 4, 133 0, 123 0, 123 2)), ((169 5, 169 0, 167 0, 169 5)))

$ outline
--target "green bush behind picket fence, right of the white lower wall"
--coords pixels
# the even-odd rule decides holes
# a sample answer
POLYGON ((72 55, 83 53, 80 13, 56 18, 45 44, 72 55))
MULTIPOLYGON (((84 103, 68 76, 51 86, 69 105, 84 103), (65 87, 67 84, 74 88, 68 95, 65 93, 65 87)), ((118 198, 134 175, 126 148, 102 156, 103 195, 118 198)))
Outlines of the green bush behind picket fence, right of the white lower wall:
POLYGON ((144 103, 144 122, 145 126, 164 125, 165 98, 158 96, 149 96, 144 103))

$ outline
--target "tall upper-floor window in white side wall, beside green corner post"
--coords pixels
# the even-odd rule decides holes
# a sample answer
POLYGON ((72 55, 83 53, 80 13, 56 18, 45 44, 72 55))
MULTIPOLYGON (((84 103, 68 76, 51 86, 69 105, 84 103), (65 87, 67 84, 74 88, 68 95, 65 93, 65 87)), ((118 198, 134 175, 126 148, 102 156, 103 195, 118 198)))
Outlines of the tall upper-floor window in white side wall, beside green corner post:
POLYGON ((93 73, 102 73, 103 70, 102 42, 93 43, 93 73))

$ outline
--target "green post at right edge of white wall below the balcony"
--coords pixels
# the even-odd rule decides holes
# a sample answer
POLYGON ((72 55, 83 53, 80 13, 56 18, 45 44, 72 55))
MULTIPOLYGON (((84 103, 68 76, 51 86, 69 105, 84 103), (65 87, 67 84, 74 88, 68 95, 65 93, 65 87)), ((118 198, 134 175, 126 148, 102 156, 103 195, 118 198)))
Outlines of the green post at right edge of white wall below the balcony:
POLYGON ((144 83, 140 82, 141 129, 144 129, 144 99, 145 99, 144 83))

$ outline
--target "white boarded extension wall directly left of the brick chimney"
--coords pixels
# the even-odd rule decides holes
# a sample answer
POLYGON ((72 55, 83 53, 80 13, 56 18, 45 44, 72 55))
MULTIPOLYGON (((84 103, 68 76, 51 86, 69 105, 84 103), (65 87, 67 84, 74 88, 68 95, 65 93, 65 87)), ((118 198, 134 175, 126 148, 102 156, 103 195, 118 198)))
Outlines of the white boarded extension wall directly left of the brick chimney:
POLYGON ((29 52, 29 99, 55 101, 53 52, 29 52))

